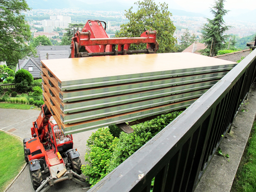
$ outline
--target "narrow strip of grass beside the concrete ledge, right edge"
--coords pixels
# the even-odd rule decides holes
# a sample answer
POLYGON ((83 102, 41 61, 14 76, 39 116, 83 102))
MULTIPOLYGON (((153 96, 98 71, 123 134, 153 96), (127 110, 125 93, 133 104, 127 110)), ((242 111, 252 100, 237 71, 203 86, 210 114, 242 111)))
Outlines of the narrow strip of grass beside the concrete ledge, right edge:
POLYGON ((231 192, 256 192, 256 122, 253 123, 231 192))

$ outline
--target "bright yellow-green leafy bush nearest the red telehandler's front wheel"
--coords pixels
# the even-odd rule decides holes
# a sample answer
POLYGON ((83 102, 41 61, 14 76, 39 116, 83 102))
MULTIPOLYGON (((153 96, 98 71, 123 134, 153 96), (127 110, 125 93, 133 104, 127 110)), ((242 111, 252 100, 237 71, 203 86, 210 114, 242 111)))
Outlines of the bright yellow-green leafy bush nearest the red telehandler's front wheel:
POLYGON ((109 128, 99 128, 87 140, 87 152, 84 157, 88 164, 82 165, 81 170, 84 175, 90 177, 89 183, 92 186, 108 174, 117 140, 109 128))

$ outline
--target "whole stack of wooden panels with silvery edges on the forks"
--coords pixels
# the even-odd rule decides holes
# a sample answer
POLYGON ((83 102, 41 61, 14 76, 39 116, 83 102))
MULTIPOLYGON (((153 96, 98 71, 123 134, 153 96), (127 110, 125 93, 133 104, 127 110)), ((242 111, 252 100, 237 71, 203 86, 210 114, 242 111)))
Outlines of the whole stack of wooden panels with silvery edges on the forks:
POLYGON ((236 66, 192 53, 41 63, 45 103, 66 134, 189 107, 236 66))

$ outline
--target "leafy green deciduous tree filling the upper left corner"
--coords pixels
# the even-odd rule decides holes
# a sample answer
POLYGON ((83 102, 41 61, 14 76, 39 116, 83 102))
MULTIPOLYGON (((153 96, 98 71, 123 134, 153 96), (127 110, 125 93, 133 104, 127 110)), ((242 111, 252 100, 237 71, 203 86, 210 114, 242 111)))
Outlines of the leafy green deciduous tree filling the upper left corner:
POLYGON ((29 25, 21 12, 30 10, 25 0, 0 0, 0 61, 17 63, 18 59, 35 54, 29 41, 29 25))

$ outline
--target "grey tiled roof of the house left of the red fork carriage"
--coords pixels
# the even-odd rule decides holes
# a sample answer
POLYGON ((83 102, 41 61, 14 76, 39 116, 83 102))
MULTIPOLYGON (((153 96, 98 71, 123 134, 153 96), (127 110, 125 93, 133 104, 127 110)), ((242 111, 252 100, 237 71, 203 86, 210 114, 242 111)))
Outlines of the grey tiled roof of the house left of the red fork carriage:
MULTIPOLYGON (((58 45, 58 46, 37 46, 36 57, 25 58, 19 60, 19 63, 16 67, 16 71, 22 69, 29 62, 35 64, 41 70, 41 60, 47 59, 59 59, 59 58, 69 58, 71 49, 69 45, 58 45)), ((15 72, 16 72, 15 71, 15 72)))

